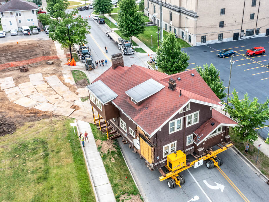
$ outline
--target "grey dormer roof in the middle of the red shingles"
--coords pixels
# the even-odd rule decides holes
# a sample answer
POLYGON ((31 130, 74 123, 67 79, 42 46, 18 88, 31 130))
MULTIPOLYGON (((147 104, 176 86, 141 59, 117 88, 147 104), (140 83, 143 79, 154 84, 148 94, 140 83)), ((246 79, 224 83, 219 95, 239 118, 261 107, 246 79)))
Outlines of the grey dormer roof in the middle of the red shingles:
POLYGON ((164 87, 164 85, 160 84, 154 79, 149 79, 141 84, 138 84, 137 86, 134 86, 128 91, 125 91, 125 93, 136 102, 140 102, 159 92, 164 87))

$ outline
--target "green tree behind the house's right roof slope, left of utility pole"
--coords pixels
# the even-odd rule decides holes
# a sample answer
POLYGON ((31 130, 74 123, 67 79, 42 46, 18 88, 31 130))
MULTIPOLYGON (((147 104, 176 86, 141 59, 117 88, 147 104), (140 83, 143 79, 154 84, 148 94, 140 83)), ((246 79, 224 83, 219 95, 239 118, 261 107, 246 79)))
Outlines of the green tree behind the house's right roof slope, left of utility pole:
POLYGON ((203 67, 204 68, 201 68, 201 66, 198 65, 196 66, 198 73, 220 100, 225 98, 226 93, 223 92, 225 87, 223 86, 223 81, 219 78, 219 71, 212 63, 210 66, 204 64, 203 67))

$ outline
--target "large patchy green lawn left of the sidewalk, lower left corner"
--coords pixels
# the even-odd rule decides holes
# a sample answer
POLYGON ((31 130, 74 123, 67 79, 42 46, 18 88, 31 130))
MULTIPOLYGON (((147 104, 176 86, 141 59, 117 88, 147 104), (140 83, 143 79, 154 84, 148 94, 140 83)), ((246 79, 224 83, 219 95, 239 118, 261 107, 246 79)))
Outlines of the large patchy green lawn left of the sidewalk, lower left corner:
POLYGON ((71 118, 26 122, 0 137, 0 201, 95 201, 71 118))

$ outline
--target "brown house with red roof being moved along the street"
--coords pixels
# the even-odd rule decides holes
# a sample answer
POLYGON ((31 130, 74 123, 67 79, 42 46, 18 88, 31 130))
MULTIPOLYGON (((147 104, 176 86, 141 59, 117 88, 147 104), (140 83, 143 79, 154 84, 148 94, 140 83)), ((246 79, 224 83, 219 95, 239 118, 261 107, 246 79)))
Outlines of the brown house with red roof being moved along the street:
POLYGON ((195 69, 167 75, 124 66, 120 53, 111 60, 111 68, 87 86, 96 125, 108 138, 122 136, 150 169, 163 167, 174 151, 201 156, 230 141, 229 127, 237 122, 220 110, 221 100, 195 69))

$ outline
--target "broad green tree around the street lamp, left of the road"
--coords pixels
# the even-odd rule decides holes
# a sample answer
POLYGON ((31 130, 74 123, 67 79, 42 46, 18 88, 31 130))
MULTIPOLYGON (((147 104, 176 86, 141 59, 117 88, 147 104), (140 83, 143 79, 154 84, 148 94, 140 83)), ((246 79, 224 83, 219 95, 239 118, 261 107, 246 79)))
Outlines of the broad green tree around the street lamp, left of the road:
POLYGON ((82 17, 73 17, 73 15, 76 14, 78 14, 78 11, 73 10, 70 13, 67 13, 60 22, 50 19, 50 31, 48 36, 52 40, 59 42, 62 48, 67 48, 69 44, 73 46, 73 44, 81 45, 88 43, 86 34, 90 33, 89 29, 91 26, 89 26, 88 21, 82 17), (68 36, 69 24, 71 24, 69 26, 70 40, 68 36))

